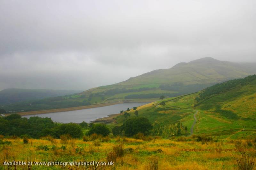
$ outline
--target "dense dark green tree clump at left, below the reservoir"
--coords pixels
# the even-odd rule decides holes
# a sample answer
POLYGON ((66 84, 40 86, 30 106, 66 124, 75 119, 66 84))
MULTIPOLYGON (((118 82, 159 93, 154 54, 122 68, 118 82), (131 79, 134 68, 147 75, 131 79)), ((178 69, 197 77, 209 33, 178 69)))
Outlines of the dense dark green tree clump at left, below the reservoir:
POLYGON ((0 118, 0 134, 4 136, 29 136, 39 138, 51 135, 59 138, 60 135, 69 134, 74 138, 83 136, 82 127, 76 123, 55 123, 51 118, 21 117, 12 114, 0 118))

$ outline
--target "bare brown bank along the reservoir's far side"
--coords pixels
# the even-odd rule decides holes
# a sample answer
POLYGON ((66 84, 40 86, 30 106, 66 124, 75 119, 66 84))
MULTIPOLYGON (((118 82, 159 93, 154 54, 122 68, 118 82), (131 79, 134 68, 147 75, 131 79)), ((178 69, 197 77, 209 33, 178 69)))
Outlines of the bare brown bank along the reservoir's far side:
MULTIPOLYGON (((118 101, 118 102, 102 103, 102 104, 89 105, 89 106, 68 107, 68 108, 50 109, 50 110, 38 110, 38 111, 31 111, 31 112, 18 112, 17 114, 21 116, 40 115, 40 114, 46 114, 46 113, 68 112, 73 110, 83 110, 83 109, 89 109, 89 108, 95 108, 95 107, 104 107, 104 106, 116 105, 121 103, 124 103, 124 102, 118 101)), ((13 113, 5 114, 5 116, 11 115, 11 114, 13 113)))

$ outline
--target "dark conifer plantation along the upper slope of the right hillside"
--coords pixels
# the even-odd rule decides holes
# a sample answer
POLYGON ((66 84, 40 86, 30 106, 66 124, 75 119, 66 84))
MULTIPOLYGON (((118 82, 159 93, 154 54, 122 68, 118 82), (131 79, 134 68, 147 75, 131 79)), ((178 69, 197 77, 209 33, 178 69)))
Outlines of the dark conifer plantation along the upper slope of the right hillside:
POLYGON ((256 79, 256 75, 252 75, 245 78, 239 78, 239 79, 229 80, 223 83, 218 83, 211 87, 207 87, 204 91, 200 92, 199 97, 196 97, 196 100, 199 102, 201 100, 210 98, 212 95, 220 94, 222 92, 231 90, 232 88, 238 85, 246 85, 255 79, 256 79))

